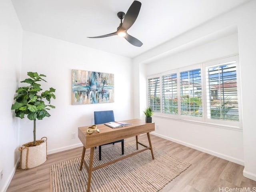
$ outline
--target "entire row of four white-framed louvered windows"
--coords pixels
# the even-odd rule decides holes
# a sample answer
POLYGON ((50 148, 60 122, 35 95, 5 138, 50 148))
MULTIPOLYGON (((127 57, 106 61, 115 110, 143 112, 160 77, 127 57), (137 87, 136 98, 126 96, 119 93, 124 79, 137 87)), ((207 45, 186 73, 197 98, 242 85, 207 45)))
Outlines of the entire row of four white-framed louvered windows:
POLYGON ((239 59, 230 56, 148 78, 148 106, 164 118, 242 127, 239 59))

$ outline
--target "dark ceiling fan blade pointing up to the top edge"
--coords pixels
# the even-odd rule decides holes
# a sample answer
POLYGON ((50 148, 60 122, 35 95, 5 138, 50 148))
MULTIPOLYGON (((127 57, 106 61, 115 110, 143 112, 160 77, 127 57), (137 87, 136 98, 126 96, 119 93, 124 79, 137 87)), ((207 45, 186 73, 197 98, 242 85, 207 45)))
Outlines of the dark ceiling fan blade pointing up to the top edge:
POLYGON ((124 22, 121 30, 128 30, 136 21, 140 12, 141 2, 134 1, 124 16, 124 22))

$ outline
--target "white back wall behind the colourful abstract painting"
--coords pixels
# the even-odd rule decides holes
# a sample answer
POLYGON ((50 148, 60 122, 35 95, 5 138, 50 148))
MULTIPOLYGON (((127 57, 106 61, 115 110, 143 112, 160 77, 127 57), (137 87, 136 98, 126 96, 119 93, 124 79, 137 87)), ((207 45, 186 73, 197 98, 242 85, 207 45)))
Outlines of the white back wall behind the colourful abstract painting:
MULTIPOLYGON (((133 118, 132 62, 131 59, 117 56, 77 44, 49 38, 24 31, 22 47, 22 80, 27 72, 46 75, 43 88, 56 89, 56 106, 50 110, 51 116, 37 120, 37 139, 48 138, 48 152, 58 152, 81 146, 77 137, 78 127, 94 124, 93 112, 114 110, 116 120, 133 118), (72 69, 106 72, 114 74, 114 103, 71 104, 72 69), (76 139, 71 139, 71 133, 76 139)), ((20 144, 33 139, 33 122, 20 121, 20 144)))

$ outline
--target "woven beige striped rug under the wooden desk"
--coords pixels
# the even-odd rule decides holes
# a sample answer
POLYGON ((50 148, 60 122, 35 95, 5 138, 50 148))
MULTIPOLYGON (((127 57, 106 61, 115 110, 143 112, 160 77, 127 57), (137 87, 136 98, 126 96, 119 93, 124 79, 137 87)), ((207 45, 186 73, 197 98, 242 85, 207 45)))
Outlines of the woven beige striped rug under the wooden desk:
MULTIPOLYGON (((143 147, 139 145, 139 150, 143 147)), ((124 143, 124 155, 136 151, 136 142, 124 143)), ((154 160, 146 150, 92 172, 91 192, 157 192, 186 170, 190 163, 154 148, 154 160)), ((82 154, 82 150, 81 150, 82 154)), ((93 166, 122 156, 121 146, 102 150, 102 160, 94 152, 93 166)), ((51 192, 85 192, 88 173, 80 168, 80 157, 50 167, 51 192)), ((89 155, 85 156, 89 162, 89 155)))

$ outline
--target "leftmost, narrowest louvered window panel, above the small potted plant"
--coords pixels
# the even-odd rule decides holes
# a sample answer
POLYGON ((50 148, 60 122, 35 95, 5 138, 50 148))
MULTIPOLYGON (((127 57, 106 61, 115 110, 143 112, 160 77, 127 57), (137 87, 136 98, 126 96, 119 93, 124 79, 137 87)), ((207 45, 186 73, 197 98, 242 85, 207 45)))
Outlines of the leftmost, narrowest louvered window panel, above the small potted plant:
POLYGON ((160 112, 160 78, 148 79, 148 106, 160 112))

